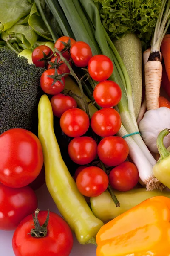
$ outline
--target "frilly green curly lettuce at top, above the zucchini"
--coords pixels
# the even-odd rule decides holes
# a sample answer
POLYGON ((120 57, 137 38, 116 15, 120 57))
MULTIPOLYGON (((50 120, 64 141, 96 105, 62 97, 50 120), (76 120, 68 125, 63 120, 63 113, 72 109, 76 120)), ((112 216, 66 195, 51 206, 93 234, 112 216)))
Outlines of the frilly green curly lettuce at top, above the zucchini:
POLYGON ((110 37, 122 38, 135 33, 148 46, 161 10, 161 0, 94 0, 103 26, 110 37))

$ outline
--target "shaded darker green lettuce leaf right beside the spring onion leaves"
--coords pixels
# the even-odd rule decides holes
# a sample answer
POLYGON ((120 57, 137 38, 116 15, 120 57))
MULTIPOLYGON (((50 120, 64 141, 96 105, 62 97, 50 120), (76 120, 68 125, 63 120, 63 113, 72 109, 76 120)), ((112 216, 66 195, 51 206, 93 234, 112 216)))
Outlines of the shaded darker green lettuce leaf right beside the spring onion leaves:
POLYGON ((51 34, 45 26, 45 23, 43 22, 35 3, 31 8, 28 23, 38 35, 46 38, 47 40, 52 40, 51 34))

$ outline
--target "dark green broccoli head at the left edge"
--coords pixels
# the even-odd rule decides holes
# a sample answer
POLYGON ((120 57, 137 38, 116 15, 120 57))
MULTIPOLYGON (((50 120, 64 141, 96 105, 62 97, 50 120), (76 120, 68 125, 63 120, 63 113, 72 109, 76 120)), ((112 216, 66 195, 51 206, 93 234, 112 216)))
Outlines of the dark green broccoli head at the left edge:
POLYGON ((16 52, 0 48, 0 134, 11 128, 31 130, 44 70, 28 64, 16 52))

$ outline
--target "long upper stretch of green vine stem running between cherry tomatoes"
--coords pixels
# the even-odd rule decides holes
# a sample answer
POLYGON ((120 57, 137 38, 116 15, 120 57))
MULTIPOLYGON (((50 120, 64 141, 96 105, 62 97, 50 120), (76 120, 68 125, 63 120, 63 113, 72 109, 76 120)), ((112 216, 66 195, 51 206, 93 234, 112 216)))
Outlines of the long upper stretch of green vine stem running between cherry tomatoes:
POLYGON ((63 57, 62 53, 56 48, 55 48, 55 52, 57 52, 59 54, 60 59, 67 65, 67 67, 70 70, 71 76, 73 76, 74 79, 76 79, 77 84, 79 85, 80 92, 81 92, 82 100, 83 100, 84 105, 85 105, 85 111, 88 114, 88 117, 90 119, 90 113, 89 113, 89 109, 88 109, 88 102, 85 99, 85 94, 84 94, 83 88, 82 88, 82 81, 78 79, 77 75, 74 73, 74 70, 70 66, 69 62, 63 57))

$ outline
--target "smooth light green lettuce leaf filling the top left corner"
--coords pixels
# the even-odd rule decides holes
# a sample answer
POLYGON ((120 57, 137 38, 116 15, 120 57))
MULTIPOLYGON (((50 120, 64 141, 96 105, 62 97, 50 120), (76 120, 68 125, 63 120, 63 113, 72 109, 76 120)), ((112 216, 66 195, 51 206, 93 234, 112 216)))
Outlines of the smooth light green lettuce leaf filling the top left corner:
POLYGON ((30 13, 31 7, 32 4, 28 0, 0 0, 0 30, 10 29, 30 13))

